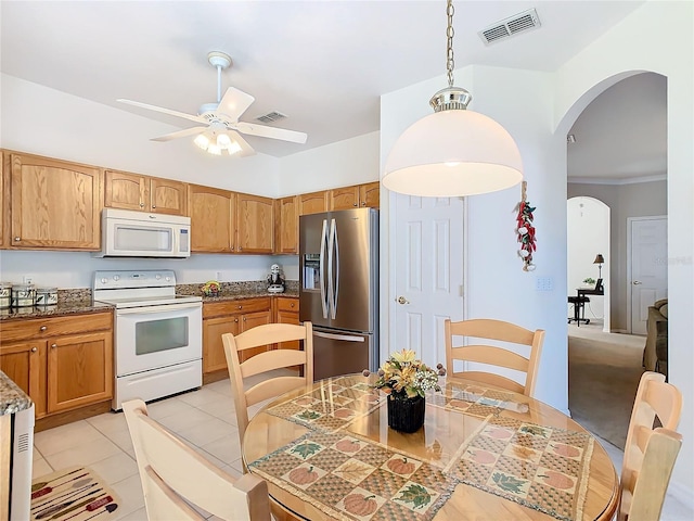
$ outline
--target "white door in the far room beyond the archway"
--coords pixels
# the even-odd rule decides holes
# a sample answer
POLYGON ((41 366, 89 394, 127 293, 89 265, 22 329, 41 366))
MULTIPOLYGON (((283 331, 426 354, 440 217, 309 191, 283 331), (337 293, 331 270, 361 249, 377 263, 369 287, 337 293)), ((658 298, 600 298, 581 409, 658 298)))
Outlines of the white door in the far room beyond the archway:
POLYGON ((631 333, 646 334, 648 306, 668 295, 668 221, 666 217, 629 219, 631 333))

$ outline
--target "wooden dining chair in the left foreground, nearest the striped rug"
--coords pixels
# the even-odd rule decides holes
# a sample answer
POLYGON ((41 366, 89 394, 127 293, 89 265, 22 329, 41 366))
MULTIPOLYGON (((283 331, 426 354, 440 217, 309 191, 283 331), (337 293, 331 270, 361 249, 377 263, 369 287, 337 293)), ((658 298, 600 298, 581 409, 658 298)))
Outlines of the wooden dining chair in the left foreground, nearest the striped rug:
POLYGON ((192 506, 228 521, 269 521, 268 484, 223 472, 147 416, 141 399, 124 402, 147 519, 200 520, 192 506))

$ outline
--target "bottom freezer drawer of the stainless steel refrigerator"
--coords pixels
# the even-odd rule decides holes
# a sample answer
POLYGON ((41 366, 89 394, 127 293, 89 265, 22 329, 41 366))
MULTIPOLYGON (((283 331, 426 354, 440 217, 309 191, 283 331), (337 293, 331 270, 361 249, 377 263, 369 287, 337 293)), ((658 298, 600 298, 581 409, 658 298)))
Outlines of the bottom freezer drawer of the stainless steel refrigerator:
POLYGON ((373 334, 313 329, 313 378, 377 369, 373 334))

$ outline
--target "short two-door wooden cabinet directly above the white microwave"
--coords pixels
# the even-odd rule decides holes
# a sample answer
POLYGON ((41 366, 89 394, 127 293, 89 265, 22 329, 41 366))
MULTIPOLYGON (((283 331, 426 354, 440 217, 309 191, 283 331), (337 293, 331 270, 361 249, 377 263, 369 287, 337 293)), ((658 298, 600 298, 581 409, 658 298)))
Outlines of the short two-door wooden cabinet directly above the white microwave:
POLYGON ((185 182, 117 170, 106 170, 104 177, 108 208, 187 215, 185 182))

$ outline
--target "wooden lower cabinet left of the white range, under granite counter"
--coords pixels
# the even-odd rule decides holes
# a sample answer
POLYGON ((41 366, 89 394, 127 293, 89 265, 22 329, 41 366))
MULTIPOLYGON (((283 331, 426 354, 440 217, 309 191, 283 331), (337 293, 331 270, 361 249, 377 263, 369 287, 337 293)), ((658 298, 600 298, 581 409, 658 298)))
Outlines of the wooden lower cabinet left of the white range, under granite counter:
POLYGON ((0 323, 0 369, 36 404, 36 418, 113 397, 113 313, 0 323))

